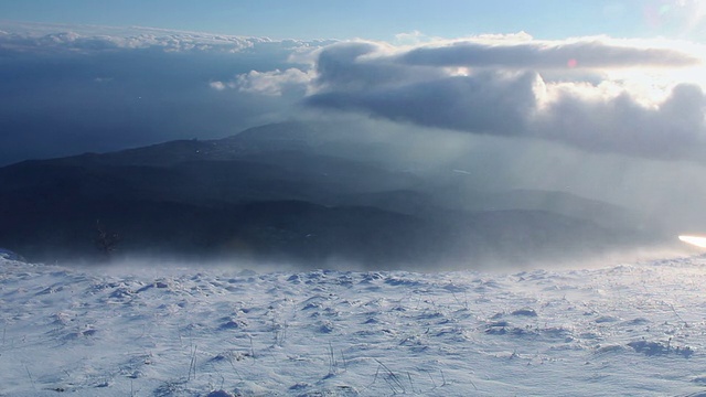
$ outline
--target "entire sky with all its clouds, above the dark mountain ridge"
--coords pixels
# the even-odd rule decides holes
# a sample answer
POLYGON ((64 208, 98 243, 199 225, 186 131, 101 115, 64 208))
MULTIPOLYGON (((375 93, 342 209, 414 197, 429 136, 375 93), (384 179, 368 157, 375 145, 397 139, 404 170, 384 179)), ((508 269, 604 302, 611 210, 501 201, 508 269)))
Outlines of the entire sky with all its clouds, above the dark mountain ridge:
POLYGON ((426 129, 420 157, 512 187, 706 196, 703 1, 0 0, 0 165, 347 117, 426 129), (475 151, 445 151, 453 135, 475 151))

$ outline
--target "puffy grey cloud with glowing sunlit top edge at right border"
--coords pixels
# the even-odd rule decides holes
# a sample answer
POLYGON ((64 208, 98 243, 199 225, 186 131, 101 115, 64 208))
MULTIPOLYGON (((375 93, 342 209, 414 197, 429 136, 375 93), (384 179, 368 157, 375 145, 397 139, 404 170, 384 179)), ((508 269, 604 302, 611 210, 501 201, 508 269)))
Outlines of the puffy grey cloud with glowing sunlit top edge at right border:
POLYGON ((676 85, 652 107, 627 92, 595 98, 566 87, 554 90, 556 97, 532 120, 531 133, 537 137, 591 151, 662 159, 698 155, 695 149, 706 143, 706 95, 697 85, 676 85))

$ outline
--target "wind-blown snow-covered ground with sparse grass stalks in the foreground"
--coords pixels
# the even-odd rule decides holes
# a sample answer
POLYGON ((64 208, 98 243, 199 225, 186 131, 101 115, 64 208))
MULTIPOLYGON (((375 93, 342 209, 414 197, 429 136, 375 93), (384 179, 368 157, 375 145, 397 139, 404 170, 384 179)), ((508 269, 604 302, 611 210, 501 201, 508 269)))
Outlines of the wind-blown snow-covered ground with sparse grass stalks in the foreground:
POLYGON ((0 258, 2 396, 706 396, 706 258, 511 275, 0 258))

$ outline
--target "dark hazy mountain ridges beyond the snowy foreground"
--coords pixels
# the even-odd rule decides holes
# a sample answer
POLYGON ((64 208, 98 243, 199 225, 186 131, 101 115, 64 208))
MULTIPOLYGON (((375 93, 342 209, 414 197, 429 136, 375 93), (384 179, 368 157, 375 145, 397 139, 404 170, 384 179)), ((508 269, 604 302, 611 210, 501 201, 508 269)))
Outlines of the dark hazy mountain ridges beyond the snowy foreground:
POLYGON ((100 228, 120 236, 115 255, 398 267, 560 257, 650 238, 616 206, 555 192, 460 194, 328 153, 345 146, 339 138, 322 125, 278 124, 9 165, 0 246, 31 260, 95 258, 100 228))

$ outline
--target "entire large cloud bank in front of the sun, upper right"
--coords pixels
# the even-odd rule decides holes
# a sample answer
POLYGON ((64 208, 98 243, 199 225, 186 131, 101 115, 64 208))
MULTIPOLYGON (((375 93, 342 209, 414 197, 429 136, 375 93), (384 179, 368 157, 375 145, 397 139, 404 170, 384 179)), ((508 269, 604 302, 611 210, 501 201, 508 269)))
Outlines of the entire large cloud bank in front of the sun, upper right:
POLYGON ((695 155, 706 141, 697 84, 644 98, 617 67, 673 69, 697 56, 606 39, 567 43, 468 41, 413 49, 338 43, 320 51, 306 103, 320 108, 650 158, 695 155), (564 73, 563 78, 544 75, 564 73), (587 79, 586 76, 590 78, 587 79))

